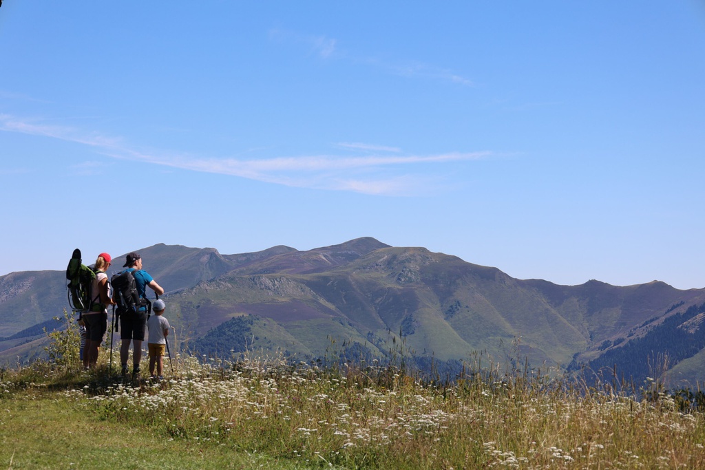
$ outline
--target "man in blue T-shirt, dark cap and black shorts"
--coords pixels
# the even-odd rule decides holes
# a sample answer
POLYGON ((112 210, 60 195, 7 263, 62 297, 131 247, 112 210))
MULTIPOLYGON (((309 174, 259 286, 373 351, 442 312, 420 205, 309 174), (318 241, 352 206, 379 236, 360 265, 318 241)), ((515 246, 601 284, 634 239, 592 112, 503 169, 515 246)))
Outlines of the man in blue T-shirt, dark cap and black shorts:
MULTIPOLYGON (((147 286, 157 292, 157 295, 164 294, 157 281, 149 276, 147 271, 142 271, 142 256, 135 252, 128 254, 123 268, 133 272, 137 293, 140 297, 147 298, 147 286)), ((120 361, 122 364, 123 376, 128 373, 128 356, 130 355, 130 340, 133 342, 133 378, 140 375, 140 361, 142 360, 142 341, 145 340, 145 328, 147 327, 147 307, 140 307, 137 315, 120 316, 120 361)))

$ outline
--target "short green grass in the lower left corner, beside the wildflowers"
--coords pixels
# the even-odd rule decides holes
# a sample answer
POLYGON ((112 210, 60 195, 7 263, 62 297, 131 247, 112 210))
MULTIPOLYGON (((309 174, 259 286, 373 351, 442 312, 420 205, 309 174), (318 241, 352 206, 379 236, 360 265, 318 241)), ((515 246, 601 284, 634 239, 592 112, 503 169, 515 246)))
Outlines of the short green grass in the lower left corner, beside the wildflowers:
MULTIPOLYGON (((0 400, 6 469, 298 468, 232 445, 173 440, 160 426, 106 419, 65 392, 25 390, 0 400)), ((165 417, 166 419, 166 417, 165 417)))

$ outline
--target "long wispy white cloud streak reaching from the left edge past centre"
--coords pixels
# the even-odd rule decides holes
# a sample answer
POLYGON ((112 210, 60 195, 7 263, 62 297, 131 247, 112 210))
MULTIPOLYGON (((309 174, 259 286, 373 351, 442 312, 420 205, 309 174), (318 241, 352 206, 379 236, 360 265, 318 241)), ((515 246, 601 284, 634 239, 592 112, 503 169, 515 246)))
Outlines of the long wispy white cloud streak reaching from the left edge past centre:
MULTIPOLYGON (((77 142, 93 147, 99 154, 116 159, 204 173, 233 175, 240 178, 323 190, 362 192, 364 194, 407 195, 424 192, 429 186, 427 165, 458 163, 483 159, 490 152, 449 152, 435 155, 401 155, 397 147, 363 143, 342 143, 339 147, 365 151, 362 156, 313 155, 270 159, 208 159, 188 154, 142 151, 128 148, 123 140, 56 125, 26 122, 0 114, 0 130, 22 132, 77 142), (369 154, 369 152, 374 152, 369 154), (379 152, 379 153, 377 153, 379 152), (424 166, 419 168, 419 165, 424 166)), ((96 174, 102 163, 90 161, 75 167, 83 174, 96 174)))

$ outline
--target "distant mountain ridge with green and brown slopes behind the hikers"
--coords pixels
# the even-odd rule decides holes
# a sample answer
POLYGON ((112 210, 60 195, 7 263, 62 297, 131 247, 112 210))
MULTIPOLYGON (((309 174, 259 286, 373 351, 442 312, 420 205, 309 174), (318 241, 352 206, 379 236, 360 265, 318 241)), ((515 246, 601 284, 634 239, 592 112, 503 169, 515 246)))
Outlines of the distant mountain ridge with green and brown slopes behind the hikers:
MULTIPOLYGON (((658 281, 618 287, 519 280, 457 256, 391 247, 372 237, 303 252, 277 246, 223 255, 164 244, 137 251, 166 289, 166 315, 180 345, 203 354, 247 349, 321 357, 344 342, 345 354, 372 358, 388 354, 397 337, 419 363, 466 361, 482 351, 498 361, 524 357, 572 369, 606 369, 606 361, 614 361, 641 379, 643 367, 630 364, 665 352, 674 362, 661 372, 673 384, 705 378, 703 289, 658 281), (654 338, 673 328, 682 333, 679 345, 659 346, 654 338)), ((0 276, 0 337, 6 338, 0 357, 16 359, 15 348, 28 346, 13 335, 33 331, 67 306, 62 271, 0 276)))

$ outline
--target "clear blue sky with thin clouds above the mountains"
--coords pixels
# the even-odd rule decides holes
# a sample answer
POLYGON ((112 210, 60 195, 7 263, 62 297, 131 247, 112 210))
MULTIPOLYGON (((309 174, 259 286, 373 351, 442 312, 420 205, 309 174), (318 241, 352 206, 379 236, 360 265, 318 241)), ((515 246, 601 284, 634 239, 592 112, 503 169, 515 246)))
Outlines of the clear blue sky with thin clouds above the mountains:
POLYGON ((703 1, 4 0, 0 44, 0 275, 370 236, 705 287, 703 1))

